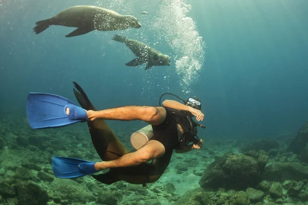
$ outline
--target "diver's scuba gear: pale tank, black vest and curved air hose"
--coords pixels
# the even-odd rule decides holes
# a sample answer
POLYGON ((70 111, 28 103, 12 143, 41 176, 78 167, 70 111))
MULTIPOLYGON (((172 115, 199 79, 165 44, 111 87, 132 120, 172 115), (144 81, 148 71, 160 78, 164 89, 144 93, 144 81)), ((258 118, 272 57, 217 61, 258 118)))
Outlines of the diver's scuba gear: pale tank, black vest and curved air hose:
MULTIPOLYGON (((161 106, 161 99, 166 94, 170 94, 170 95, 173 95, 179 98, 180 100, 184 102, 184 105, 187 105, 187 101, 183 100, 179 96, 172 94, 172 93, 164 93, 161 95, 159 99, 160 106, 161 106)), ((171 112, 171 114, 174 115, 174 117, 176 118, 177 124, 180 124, 183 130, 185 131, 182 139, 180 140, 179 149, 182 149, 183 147, 185 147, 187 143, 189 143, 190 141, 196 144, 199 141, 199 137, 197 136, 197 127, 201 127, 204 129, 205 126, 192 120, 191 115, 189 115, 189 112, 187 111, 180 111, 180 110, 175 110, 172 108, 166 108, 166 109, 168 109, 171 112), (198 139, 196 139, 195 136, 198 139)), ((141 128, 140 130, 132 133, 132 135, 130 136, 130 143, 134 149, 139 150, 150 140, 153 134, 154 133, 153 133, 152 126, 147 125, 141 128)))

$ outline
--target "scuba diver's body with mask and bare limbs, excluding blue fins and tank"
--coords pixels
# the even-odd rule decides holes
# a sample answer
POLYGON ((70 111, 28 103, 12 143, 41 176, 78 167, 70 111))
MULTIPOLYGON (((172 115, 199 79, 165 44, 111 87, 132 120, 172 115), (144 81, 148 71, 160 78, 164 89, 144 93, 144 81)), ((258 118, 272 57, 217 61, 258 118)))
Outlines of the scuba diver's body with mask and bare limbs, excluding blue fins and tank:
POLYGON ((137 166, 142 162, 159 158, 169 150, 176 149, 176 152, 184 153, 200 149, 203 140, 195 138, 197 128, 191 125, 193 121, 190 118, 196 116, 198 121, 203 120, 201 100, 189 97, 183 101, 184 104, 175 100, 165 100, 162 107, 124 106, 100 111, 86 111, 88 120, 98 118, 123 121, 143 120, 148 122, 153 129, 153 136, 142 148, 115 160, 97 162, 94 165, 95 170, 137 166), (189 142, 193 144, 188 146, 189 142))

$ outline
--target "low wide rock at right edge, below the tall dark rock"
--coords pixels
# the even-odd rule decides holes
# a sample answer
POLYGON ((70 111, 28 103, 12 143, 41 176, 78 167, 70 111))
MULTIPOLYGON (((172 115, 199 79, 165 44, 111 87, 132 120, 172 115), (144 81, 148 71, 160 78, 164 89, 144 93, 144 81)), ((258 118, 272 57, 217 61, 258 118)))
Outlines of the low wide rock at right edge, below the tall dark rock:
POLYGON ((285 180, 301 181, 308 178, 308 168, 299 162, 272 163, 265 168, 262 178, 279 182, 285 180))

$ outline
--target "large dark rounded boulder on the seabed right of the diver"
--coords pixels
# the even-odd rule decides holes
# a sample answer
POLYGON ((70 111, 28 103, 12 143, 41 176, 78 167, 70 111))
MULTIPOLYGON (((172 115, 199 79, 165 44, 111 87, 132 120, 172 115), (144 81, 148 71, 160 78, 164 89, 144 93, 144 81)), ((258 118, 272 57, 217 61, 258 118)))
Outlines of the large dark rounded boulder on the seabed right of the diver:
POLYGON ((261 180, 261 171, 256 158, 229 152, 207 166, 199 184, 205 190, 242 190, 256 186, 261 180))

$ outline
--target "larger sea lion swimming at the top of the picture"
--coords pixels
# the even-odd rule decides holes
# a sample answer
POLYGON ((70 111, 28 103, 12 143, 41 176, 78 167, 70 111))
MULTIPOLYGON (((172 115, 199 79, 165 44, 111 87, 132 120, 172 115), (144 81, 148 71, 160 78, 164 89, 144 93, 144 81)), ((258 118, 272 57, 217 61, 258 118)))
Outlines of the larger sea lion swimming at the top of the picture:
POLYGON ((41 33, 51 25, 78 28, 65 37, 83 35, 93 30, 115 31, 129 27, 141 27, 138 19, 132 15, 121 15, 112 10, 95 6, 69 7, 52 18, 40 20, 35 24, 37 26, 33 28, 33 32, 36 34, 41 33))

